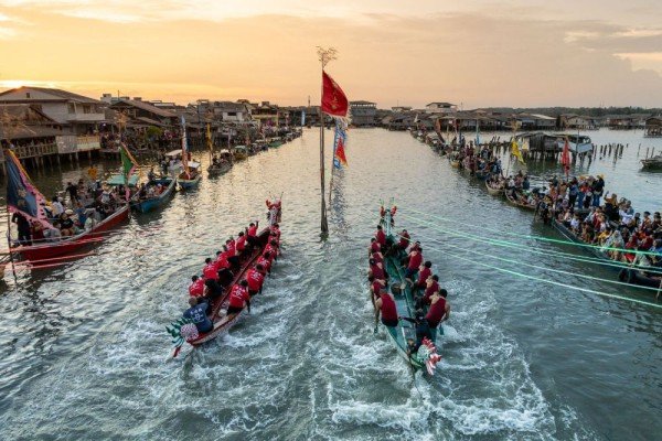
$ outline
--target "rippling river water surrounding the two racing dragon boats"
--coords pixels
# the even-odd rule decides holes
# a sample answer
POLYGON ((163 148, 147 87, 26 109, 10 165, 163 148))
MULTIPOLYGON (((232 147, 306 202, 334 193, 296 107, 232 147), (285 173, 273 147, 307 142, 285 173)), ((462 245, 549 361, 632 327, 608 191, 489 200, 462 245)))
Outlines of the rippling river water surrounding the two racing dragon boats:
MULTIPOLYGON (((559 279, 545 268, 606 279, 612 272, 527 251, 572 250, 554 244, 528 240, 504 251, 399 216, 397 227, 430 238, 423 239, 424 252, 453 311, 438 375, 413 380, 387 337, 372 333, 365 248, 378 201, 394 197, 403 212, 481 225, 485 235, 548 230, 407 133, 357 129, 350 132, 349 166, 334 176, 331 234, 321 241, 317 136, 307 130, 224 176, 205 176, 196 192, 178 192, 162 211, 134 216, 93 256, 6 291, 0 438, 524 440, 662 432, 656 310, 458 261, 444 244, 521 259, 537 267, 527 269, 536 277, 600 291, 615 288, 559 279), (228 235, 264 220, 265 198, 281 192, 285 252, 253 313, 228 335, 170 359, 164 325, 185 308, 190 276, 228 235)), ((632 137, 616 166, 598 159, 588 172, 604 172, 608 187, 638 207, 659 206, 662 175, 638 170, 637 133, 590 136, 596 143, 632 137)), ((560 171, 544 166, 537 173, 560 171)), ((76 179, 75 170, 66 172, 34 180, 50 194, 76 179)))

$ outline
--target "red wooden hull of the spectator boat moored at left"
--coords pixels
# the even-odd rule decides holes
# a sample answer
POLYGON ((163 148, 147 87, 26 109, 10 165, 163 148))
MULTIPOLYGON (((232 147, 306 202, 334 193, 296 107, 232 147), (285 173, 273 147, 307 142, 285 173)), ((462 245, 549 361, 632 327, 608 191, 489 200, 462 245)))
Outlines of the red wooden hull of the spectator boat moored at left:
POLYGON ((54 257, 71 255, 77 249, 102 240, 104 233, 116 227, 129 218, 129 206, 122 205, 110 216, 99 222, 89 232, 83 232, 76 236, 63 238, 58 241, 43 243, 31 246, 19 246, 10 248, 11 252, 19 252, 25 260, 40 261, 54 257))

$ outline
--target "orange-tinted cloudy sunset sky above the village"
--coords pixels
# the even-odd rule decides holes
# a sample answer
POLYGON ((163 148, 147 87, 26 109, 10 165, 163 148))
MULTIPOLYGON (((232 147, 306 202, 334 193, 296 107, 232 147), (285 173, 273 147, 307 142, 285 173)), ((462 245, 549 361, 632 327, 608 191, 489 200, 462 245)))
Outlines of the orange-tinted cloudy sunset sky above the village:
POLYGON ((0 0, 0 89, 186 104, 662 107, 661 0, 0 0))

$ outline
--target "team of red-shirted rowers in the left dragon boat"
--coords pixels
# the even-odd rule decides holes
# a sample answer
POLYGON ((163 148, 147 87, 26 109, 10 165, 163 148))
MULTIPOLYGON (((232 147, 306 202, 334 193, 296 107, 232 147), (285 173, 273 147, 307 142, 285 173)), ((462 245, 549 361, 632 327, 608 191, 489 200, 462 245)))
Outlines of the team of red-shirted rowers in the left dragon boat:
POLYGON ((258 222, 252 222, 245 230, 225 240, 215 258, 206 258, 201 276, 193 276, 189 286, 189 309, 183 316, 190 319, 199 333, 214 327, 214 310, 224 293, 229 289, 225 314, 218 312, 218 319, 232 320, 244 308, 250 313, 250 299, 261 292, 265 277, 271 273, 274 260, 280 256, 280 228, 277 223, 269 227, 267 245, 255 263, 248 268, 241 281, 233 283, 242 265, 253 256, 255 248, 261 246, 257 234, 258 222))

